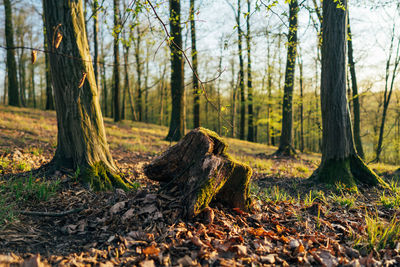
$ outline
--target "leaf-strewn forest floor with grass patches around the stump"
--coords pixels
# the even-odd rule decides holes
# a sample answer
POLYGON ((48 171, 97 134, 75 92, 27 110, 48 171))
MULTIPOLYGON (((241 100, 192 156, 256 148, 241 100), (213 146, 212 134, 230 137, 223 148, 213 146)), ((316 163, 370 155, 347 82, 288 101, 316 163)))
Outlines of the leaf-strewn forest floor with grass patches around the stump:
POLYGON ((55 113, 0 105, 0 266, 400 265, 395 166, 372 166, 387 189, 323 187, 306 179, 317 154, 267 158, 276 148, 227 138, 228 152, 254 170, 252 212, 212 203, 185 221, 142 172, 173 145, 167 128, 105 124, 130 192, 95 193, 79 173, 32 175, 55 152, 55 113))

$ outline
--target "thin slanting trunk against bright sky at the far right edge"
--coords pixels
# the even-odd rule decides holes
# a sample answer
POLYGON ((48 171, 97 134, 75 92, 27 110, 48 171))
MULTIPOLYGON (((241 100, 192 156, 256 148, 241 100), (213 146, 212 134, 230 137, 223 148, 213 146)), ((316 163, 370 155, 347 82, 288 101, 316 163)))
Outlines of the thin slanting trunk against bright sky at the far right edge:
POLYGON ((400 39, 398 39, 396 53, 395 53, 394 62, 393 62, 392 77, 390 79, 390 66, 392 64, 392 53, 393 53, 393 48, 394 48, 393 47, 394 41, 395 41, 395 24, 393 25, 392 38, 390 41, 389 58, 386 61, 385 91, 383 94, 383 110, 382 110, 382 117, 381 117, 381 122, 380 122, 380 127, 379 127, 378 145, 375 150, 375 162, 380 162, 380 156, 381 156, 382 148, 383 148, 383 135, 385 132, 387 112, 389 109, 390 99, 391 99, 392 93, 393 93, 394 81, 396 80, 396 76, 398 74, 397 68, 399 67, 399 64, 400 64, 400 39))

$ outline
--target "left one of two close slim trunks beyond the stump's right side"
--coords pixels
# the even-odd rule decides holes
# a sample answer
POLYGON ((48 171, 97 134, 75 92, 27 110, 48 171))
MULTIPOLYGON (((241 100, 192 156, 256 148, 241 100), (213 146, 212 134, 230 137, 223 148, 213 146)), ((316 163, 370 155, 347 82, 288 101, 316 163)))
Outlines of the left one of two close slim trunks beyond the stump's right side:
POLYGON ((245 124, 246 124, 246 99, 244 96, 244 66, 243 66, 243 49, 242 49, 242 36, 243 31, 240 26, 240 16, 241 6, 240 0, 238 0, 238 10, 236 15, 236 24, 238 28, 238 50, 239 50, 239 88, 240 88, 240 129, 239 129, 239 138, 241 140, 245 139, 245 124))

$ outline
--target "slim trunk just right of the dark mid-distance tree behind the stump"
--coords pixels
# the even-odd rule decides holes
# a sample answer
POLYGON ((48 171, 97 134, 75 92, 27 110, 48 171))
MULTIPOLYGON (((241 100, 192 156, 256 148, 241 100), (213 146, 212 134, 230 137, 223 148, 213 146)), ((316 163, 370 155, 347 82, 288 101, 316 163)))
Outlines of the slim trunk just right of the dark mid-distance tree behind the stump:
POLYGON ((190 0, 190 33, 192 38, 192 67, 193 67, 193 128, 200 127, 200 92, 197 79, 197 49, 196 24, 194 19, 194 0, 190 0))

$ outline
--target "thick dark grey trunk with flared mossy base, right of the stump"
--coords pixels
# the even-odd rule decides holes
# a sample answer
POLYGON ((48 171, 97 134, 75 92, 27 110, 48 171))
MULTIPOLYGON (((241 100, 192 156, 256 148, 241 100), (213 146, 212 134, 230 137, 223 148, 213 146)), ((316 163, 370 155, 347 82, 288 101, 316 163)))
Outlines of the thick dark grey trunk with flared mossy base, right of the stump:
POLYGON ((358 156, 346 99, 346 8, 323 1, 321 49, 322 159, 312 177, 348 186, 384 183, 358 156))

